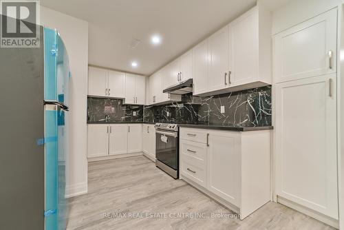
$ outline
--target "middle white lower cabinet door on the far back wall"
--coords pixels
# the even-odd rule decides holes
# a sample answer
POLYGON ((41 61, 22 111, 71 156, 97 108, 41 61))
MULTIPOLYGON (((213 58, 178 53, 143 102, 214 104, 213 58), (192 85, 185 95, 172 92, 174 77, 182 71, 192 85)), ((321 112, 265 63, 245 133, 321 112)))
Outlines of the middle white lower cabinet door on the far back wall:
POLYGON ((127 154, 128 125, 109 125, 109 155, 127 154))

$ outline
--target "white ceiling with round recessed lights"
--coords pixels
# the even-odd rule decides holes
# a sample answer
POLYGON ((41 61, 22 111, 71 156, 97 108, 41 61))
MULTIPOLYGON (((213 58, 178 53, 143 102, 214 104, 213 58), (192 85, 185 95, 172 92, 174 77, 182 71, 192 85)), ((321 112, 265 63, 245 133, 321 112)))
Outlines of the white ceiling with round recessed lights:
POLYGON ((89 64, 149 75, 255 6, 255 2, 41 0, 41 5, 89 22, 89 64), (155 33, 163 39, 158 47, 149 40, 155 33), (140 40, 136 48, 129 47, 133 39, 140 40), (131 61, 137 61, 138 67, 131 67, 131 61))

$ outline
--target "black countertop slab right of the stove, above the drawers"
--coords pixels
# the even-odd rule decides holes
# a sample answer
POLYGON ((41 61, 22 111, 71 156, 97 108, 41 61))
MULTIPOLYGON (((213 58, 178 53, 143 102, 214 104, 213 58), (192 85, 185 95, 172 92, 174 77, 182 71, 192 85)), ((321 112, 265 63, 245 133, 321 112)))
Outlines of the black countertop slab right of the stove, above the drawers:
POLYGON ((234 127, 234 126, 223 126, 223 125, 188 125, 188 124, 180 124, 179 127, 193 128, 193 129, 219 129, 219 130, 228 130, 228 131, 237 131, 237 132, 274 129, 273 126, 234 127))

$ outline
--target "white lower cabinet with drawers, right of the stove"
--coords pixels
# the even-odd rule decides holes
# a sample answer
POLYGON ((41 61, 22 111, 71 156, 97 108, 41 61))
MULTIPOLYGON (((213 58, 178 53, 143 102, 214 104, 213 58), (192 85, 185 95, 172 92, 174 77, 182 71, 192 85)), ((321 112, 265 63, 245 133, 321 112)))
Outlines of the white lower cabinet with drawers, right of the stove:
POLYGON ((239 213, 242 220, 270 201, 270 148, 270 130, 181 127, 180 178, 239 213))

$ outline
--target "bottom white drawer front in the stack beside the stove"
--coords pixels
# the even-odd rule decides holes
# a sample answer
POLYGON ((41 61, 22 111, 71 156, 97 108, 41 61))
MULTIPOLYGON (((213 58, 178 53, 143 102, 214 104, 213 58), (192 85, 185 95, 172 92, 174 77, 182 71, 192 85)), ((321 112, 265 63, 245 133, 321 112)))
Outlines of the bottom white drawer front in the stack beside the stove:
POLYGON ((182 154, 180 174, 206 188, 206 164, 193 156, 182 154))

